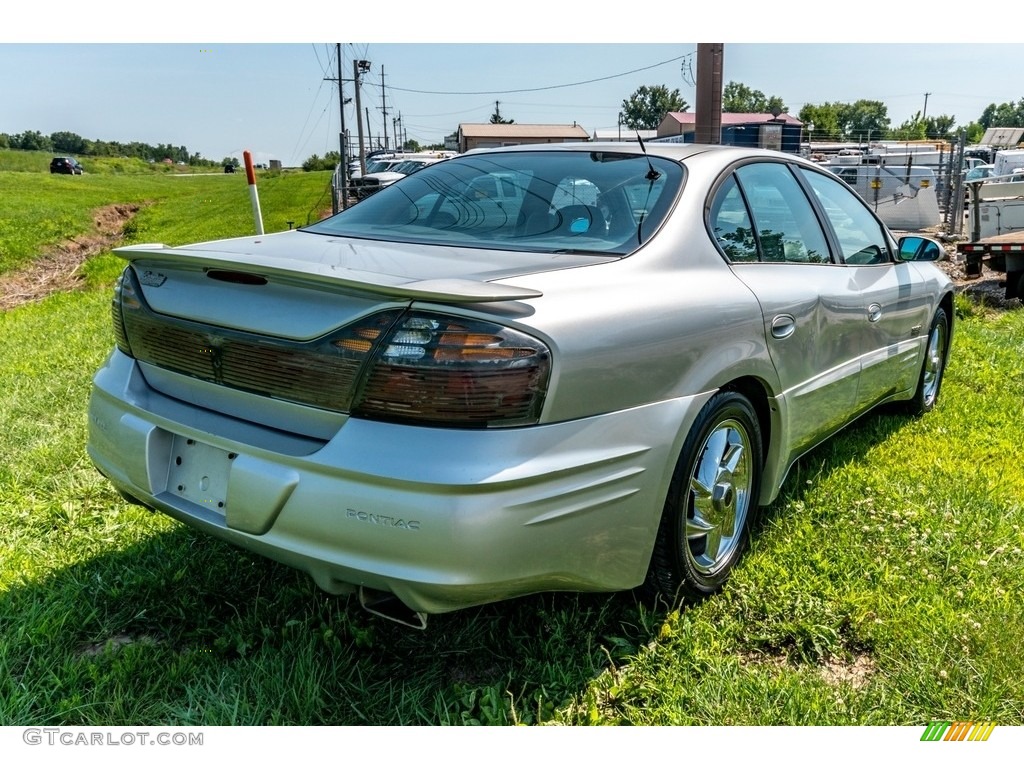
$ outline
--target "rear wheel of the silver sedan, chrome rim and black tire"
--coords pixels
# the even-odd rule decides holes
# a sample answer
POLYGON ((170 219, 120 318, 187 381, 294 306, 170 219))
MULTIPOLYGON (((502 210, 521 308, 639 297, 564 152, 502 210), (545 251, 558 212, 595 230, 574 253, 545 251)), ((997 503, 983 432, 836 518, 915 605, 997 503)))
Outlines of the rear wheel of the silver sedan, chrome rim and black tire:
POLYGON ((676 465, 643 592, 675 605, 722 588, 746 549, 763 470, 751 401, 721 391, 703 407, 676 465))

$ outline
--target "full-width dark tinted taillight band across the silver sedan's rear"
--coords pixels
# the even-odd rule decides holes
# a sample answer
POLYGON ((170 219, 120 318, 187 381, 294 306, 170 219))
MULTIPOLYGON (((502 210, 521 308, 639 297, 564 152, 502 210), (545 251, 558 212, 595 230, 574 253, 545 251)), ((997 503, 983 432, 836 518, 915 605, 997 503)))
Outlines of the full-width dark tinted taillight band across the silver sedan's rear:
POLYGON ((536 424, 550 377, 540 340, 498 324, 392 309, 311 341, 160 315, 129 267, 112 307, 118 348, 233 389, 368 419, 449 427, 536 424))

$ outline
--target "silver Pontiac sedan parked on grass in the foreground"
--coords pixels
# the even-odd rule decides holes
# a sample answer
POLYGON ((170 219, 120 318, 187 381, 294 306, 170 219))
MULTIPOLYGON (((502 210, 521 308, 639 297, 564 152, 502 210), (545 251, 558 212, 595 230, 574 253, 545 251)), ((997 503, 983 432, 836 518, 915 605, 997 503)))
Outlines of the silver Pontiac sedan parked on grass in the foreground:
POLYGON ((116 252, 99 470, 421 627, 713 594, 801 456, 935 407, 953 331, 938 243, 730 146, 477 151, 301 229, 116 252))

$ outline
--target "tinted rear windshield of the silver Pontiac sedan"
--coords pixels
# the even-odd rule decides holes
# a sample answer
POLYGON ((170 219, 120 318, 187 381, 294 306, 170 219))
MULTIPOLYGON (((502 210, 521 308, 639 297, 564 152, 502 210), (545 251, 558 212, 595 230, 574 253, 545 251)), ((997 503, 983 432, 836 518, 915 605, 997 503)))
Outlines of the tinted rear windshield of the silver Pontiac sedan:
POLYGON ((624 255, 665 218, 683 169, 599 152, 464 155, 423 168, 305 231, 368 240, 624 255))

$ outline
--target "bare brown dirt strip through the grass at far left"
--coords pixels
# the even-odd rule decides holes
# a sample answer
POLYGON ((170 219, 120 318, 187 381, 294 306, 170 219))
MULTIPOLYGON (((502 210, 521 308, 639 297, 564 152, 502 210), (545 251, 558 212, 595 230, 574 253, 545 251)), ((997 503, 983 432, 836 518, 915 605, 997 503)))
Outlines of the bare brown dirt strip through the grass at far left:
POLYGON ((0 311, 77 288, 82 281, 79 267, 89 257, 117 245, 125 223, 140 208, 137 205, 97 208, 92 212, 92 231, 66 240, 23 269, 0 275, 0 311))

